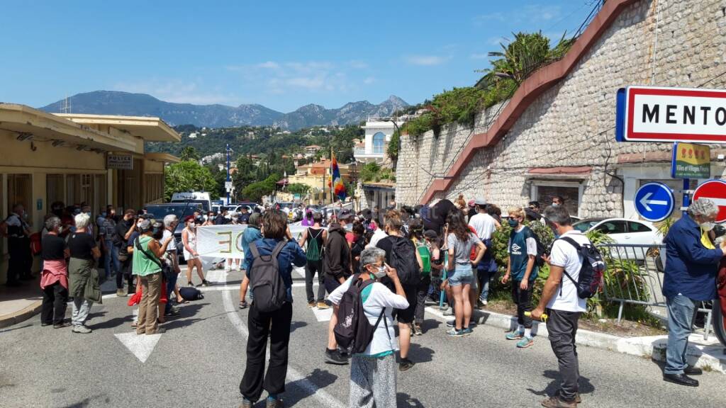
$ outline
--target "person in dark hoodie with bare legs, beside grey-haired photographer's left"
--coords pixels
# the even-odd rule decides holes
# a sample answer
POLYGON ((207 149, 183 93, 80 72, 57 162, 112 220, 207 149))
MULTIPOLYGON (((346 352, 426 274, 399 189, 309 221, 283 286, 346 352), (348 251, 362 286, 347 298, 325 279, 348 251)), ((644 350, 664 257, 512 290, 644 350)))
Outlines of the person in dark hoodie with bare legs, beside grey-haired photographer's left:
MULTIPOLYGON (((337 221, 330 224, 325 242, 325 289, 327 293, 346 282, 351 276, 351 248, 346 240, 346 225, 353 218, 348 210, 338 211, 337 221)), ((338 351, 338 342, 335 341, 333 329, 338 324, 338 306, 333 306, 333 317, 327 330, 327 348, 325 348, 325 362, 330 364, 348 364, 348 359, 338 351)))

